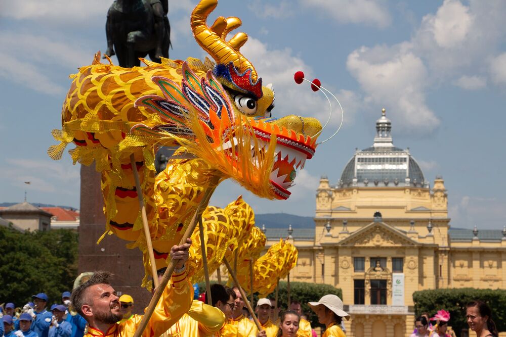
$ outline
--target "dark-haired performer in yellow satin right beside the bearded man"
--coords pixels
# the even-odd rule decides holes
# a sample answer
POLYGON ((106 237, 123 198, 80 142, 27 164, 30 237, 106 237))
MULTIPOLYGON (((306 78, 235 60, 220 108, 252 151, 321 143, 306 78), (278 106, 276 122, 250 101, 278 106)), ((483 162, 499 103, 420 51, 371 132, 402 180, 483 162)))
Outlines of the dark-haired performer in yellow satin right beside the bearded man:
MULTIPOLYGON (((230 291, 230 288, 229 288, 230 291)), ((202 337, 218 334, 230 318, 235 306, 234 298, 227 289, 215 283, 211 285, 212 306, 193 300, 190 311, 167 330, 167 337, 202 337)))

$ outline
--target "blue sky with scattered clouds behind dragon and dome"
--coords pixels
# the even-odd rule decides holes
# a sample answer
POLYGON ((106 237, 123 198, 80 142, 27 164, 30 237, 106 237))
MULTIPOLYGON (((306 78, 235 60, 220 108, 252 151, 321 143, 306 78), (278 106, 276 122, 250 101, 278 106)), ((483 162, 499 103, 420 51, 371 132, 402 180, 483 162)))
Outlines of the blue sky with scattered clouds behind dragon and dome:
MULTIPOLYGON (((52 161, 46 150, 56 143, 51 130, 60 127, 68 75, 106 49, 110 3, 0 0, 0 202, 21 202, 26 189, 29 202, 79 206, 79 167, 68 154, 52 161)), ((172 59, 205 56, 189 27, 195 4, 170 1, 172 59)), ((452 226, 506 225, 506 2, 220 0, 210 19, 219 15, 242 19, 249 36, 242 51, 273 83, 274 115, 325 119, 324 99, 293 82, 302 70, 336 94, 345 121, 306 163, 288 201, 225 182, 212 204, 243 194, 257 213, 314 215, 319 177, 339 180, 355 148, 372 144, 385 107, 394 144, 410 148, 431 184, 445 179, 452 226)))

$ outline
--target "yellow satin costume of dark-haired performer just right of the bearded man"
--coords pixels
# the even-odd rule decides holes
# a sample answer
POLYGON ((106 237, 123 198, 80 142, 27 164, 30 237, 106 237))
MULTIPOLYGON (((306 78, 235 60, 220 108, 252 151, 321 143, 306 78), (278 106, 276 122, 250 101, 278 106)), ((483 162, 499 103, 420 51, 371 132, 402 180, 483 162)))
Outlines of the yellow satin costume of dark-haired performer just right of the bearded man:
POLYGON ((170 329, 167 337, 212 336, 225 323, 225 314, 218 308, 193 300, 190 311, 184 314, 170 329))

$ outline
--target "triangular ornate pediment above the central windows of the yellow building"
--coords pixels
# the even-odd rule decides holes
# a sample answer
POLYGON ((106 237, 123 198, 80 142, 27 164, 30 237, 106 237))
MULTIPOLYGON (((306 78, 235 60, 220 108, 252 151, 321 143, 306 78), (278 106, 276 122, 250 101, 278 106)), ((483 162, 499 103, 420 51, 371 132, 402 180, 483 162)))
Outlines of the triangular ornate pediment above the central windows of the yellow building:
POLYGON ((402 247, 419 244, 406 234, 384 222, 373 222, 343 239, 340 246, 402 247))

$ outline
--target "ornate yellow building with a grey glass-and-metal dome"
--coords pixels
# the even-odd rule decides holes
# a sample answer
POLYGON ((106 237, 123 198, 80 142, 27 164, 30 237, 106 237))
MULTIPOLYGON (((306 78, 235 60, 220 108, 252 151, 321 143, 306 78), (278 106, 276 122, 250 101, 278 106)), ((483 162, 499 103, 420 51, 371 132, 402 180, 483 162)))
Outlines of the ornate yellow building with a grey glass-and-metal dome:
POLYGON ((348 337, 409 335, 416 291, 506 287, 506 230, 450 229, 444 180, 431 188, 409 150, 393 145, 385 110, 376 130, 336 185, 321 177, 314 231, 290 231, 299 250, 290 279, 342 288, 348 337))

